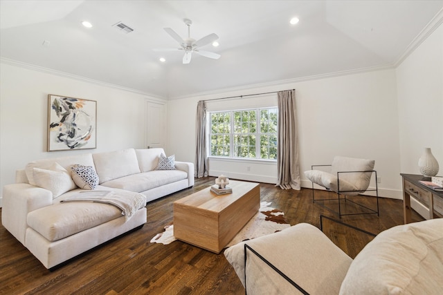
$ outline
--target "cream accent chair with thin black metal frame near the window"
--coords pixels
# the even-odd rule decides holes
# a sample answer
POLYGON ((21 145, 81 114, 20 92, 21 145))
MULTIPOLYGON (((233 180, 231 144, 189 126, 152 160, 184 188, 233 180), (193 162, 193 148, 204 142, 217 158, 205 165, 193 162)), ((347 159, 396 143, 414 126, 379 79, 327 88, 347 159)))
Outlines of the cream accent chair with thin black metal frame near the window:
MULTIPOLYGON (((338 216, 356 215, 356 214, 374 214, 379 216, 379 190, 377 186, 377 171, 374 170, 374 160, 366 160, 359 158, 347 158, 336 156, 332 164, 312 165, 311 170, 305 171, 306 177, 312 182, 312 202, 338 200, 338 216), (330 166, 330 171, 316 170, 314 167, 330 166), (369 189, 372 174, 375 174, 375 189, 369 189), (334 199, 316 199, 314 196, 314 184, 320 187, 325 187, 329 191, 337 193, 337 198, 334 199), (371 209, 346 198, 347 196, 357 196, 366 191, 376 192, 377 209, 371 209), (341 197, 343 196, 343 197, 341 197), (359 213, 343 213, 342 202, 350 201, 360 207, 363 207, 363 212, 359 213)), ((327 207, 327 209, 330 209, 327 207)))

